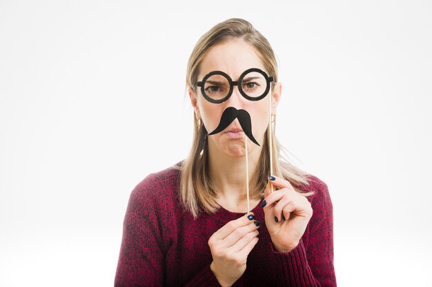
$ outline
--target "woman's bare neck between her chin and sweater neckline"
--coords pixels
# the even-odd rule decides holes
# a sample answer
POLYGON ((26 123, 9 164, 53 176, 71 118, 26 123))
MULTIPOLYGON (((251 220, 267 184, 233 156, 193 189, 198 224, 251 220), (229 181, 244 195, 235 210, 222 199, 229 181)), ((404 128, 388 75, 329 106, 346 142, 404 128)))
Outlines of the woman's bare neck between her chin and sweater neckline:
MULTIPOLYGON (((256 147, 248 154, 248 178, 251 179, 258 164, 261 148, 256 147)), ((215 185, 217 202, 233 212, 246 211, 246 158, 231 157, 216 147, 208 147, 208 167, 210 177, 215 185)), ((259 200, 251 199, 251 206, 259 200)))

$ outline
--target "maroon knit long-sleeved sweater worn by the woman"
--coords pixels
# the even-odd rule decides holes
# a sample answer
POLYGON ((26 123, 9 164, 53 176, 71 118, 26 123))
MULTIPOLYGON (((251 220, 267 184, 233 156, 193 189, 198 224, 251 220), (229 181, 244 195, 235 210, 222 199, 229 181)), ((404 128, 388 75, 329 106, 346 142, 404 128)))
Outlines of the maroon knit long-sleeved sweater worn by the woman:
MULTIPOLYGON (((315 191, 308 198, 313 216, 300 244, 289 253, 274 251, 258 204, 259 241, 233 286, 336 286, 331 199, 324 182, 308 178, 302 190, 315 191)), ((150 174, 130 194, 115 286, 220 286, 210 270, 208 238, 242 215, 220 208, 195 220, 179 201, 179 171, 150 174)))

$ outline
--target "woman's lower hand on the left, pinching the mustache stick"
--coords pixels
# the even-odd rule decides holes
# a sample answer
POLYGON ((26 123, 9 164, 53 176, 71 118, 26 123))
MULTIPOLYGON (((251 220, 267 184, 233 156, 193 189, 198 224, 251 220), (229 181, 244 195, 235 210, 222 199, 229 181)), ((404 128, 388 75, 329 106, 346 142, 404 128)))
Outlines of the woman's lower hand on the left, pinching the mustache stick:
POLYGON ((208 246, 213 256, 210 269, 222 286, 231 286, 246 270, 246 259, 258 242, 259 221, 253 214, 232 220, 211 235, 208 246))

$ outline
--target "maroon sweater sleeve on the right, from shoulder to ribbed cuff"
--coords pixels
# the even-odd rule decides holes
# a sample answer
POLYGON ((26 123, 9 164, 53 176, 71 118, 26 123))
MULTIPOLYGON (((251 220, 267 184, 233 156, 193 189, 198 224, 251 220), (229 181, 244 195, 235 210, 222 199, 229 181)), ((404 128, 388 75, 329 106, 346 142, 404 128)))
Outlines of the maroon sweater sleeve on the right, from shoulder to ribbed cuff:
POLYGON ((303 240, 292 251, 271 250, 281 275, 281 286, 335 287, 333 267, 333 206, 327 186, 320 181, 311 200, 313 217, 309 221, 307 244, 303 240), (283 282, 283 283, 282 283, 283 282))

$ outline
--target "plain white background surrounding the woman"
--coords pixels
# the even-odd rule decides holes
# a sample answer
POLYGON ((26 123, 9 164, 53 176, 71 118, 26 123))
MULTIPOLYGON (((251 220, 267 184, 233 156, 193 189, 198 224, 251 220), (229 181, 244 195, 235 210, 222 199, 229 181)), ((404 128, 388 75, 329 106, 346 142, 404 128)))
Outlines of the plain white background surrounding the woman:
POLYGON ((431 1, 0 0, 0 286, 112 286, 130 191, 185 158, 186 62, 242 17, 322 179, 339 286, 432 286, 431 1))

